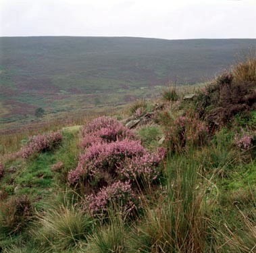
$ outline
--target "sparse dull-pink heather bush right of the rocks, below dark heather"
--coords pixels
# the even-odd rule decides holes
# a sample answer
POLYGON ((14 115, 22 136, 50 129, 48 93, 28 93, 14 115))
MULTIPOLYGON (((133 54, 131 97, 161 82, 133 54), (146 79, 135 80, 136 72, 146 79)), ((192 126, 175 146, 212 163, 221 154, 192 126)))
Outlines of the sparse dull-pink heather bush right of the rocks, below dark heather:
POLYGON ((167 136, 172 144, 185 146, 188 143, 201 144, 207 138, 207 133, 208 128, 202 121, 181 116, 174 121, 167 136))

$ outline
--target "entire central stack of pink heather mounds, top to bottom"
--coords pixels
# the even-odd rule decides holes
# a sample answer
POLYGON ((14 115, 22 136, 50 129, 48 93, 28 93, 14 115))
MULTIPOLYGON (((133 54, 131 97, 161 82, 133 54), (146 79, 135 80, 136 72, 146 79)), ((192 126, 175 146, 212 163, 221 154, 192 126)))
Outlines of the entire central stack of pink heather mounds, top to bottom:
POLYGON ((76 169, 68 174, 70 186, 87 195, 87 210, 91 213, 106 213, 113 202, 122 206, 122 212, 130 213, 135 208, 133 200, 138 184, 143 187, 141 183, 146 182, 146 186, 157 179, 157 166, 165 150, 149 152, 140 140, 134 139, 131 130, 109 117, 95 119, 86 125, 82 134, 88 136, 86 148, 80 154, 76 169), (107 125, 108 129, 112 126, 118 131, 101 135, 107 125), (88 142, 92 136, 93 141, 88 142))

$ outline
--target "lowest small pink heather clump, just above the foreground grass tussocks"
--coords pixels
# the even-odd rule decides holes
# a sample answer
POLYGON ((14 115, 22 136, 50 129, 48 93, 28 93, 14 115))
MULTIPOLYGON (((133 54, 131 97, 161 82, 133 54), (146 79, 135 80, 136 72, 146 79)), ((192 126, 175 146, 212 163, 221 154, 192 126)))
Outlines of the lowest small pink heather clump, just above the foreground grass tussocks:
POLYGON ((86 197, 86 209, 93 215, 107 213, 111 204, 117 203, 124 215, 131 213, 137 203, 136 195, 128 181, 117 181, 111 186, 103 187, 97 194, 86 197))

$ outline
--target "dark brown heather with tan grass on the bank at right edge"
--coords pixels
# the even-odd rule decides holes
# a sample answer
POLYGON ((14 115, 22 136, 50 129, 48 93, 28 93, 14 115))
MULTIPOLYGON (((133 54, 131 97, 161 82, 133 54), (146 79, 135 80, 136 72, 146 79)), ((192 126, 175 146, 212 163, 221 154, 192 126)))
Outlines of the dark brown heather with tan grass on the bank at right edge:
POLYGON ((199 90, 195 108, 210 125, 225 125, 256 108, 256 59, 247 59, 199 90))

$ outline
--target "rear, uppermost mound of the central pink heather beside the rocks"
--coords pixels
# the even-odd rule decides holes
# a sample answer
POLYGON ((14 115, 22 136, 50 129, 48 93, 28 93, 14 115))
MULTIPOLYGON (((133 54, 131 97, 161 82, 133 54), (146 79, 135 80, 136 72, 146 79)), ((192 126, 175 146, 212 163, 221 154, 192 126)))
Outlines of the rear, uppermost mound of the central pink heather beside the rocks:
POLYGON ((124 138, 133 138, 131 130, 124 127, 117 119, 111 117, 98 117, 88 123, 82 130, 82 146, 87 147, 93 143, 116 142, 124 138))

